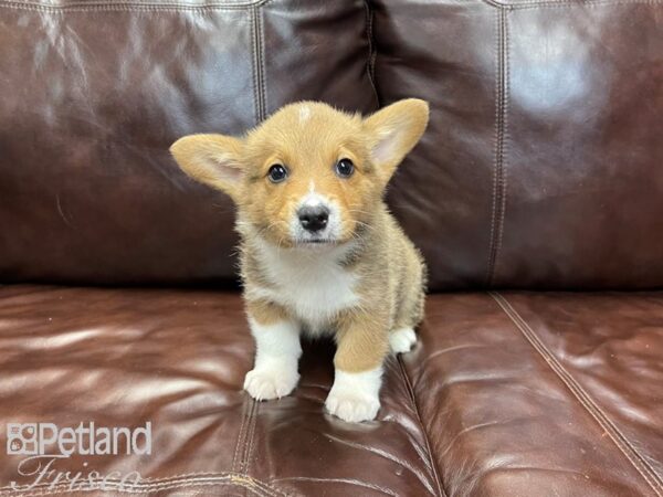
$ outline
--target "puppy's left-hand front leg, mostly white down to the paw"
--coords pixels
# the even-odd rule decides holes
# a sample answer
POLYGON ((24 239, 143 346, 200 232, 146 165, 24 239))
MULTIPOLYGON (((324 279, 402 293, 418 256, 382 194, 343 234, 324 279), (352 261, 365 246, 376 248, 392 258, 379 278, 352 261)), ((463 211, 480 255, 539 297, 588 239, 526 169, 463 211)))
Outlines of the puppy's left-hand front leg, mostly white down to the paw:
POLYGON ((280 399, 291 393, 299 380, 299 327, 285 309, 269 302, 250 302, 246 307, 256 350, 244 390, 259 401, 280 399))

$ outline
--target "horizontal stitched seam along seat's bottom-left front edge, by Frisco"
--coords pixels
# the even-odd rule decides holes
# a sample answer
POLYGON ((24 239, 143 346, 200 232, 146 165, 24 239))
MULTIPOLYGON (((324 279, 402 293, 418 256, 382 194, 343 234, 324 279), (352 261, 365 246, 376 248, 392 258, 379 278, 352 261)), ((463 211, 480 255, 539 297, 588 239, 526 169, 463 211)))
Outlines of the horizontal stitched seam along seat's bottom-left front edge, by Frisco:
MULTIPOLYGON (((283 493, 278 488, 272 487, 270 484, 262 482, 260 479, 253 478, 248 475, 241 475, 238 473, 191 473, 189 475, 181 475, 186 477, 165 477, 165 478, 156 478, 150 480, 147 484, 138 484, 131 485, 126 484, 120 479, 113 478, 93 478, 93 484, 116 484, 123 485, 124 488, 113 488, 110 491, 115 493, 124 493, 124 494, 145 494, 148 491, 158 491, 165 489, 172 488, 187 488, 187 487, 199 487, 199 486, 214 486, 214 485, 233 485, 239 486, 241 488, 249 489, 259 496, 287 496, 286 493, 283 493)), ((149 478, 146 478, 149 479, 149 478)), ((86 479, 86 482, 91 482, 86 479)), ((70 491, 90 491, 82 490, 80 488, 71 488, 71 483, 63 482, 59 484, 52 483, 43 483, 31 486, 25 489, 11 489, 8 487, 2 487, 3 489, 0 491, 0 496, 10 496, 10 495, 20 495, 22 497, 29 496, 39 496, 39 495, 53 495, 53 494, 65 494, 70 491), (40 491, 33 491, 34 489, 40 491), (28 494, 30 493, 30 494, 28 494)), ((91 490, 96 490, 95 488, 91 488, 91 490)))

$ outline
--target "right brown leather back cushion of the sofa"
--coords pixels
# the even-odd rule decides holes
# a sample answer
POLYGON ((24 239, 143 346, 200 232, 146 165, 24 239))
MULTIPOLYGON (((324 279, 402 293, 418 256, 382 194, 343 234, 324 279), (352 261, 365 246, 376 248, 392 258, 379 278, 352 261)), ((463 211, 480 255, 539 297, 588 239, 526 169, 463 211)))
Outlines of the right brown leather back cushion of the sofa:
POLYGON ((376 0, 390 201, 434 289, 663 286, 663 2, 376 0))

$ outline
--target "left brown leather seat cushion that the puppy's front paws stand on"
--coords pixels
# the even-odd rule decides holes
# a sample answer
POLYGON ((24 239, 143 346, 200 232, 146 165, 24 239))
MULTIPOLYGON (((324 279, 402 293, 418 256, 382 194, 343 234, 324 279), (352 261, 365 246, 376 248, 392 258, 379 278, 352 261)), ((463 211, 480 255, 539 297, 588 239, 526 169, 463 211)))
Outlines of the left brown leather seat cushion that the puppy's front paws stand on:
MULTIPOLYGON (((253 340, 238 294, 0 287, 0 445, 7 423, 150 422, 149 455, 74 453, 51 468, 81 472, 74 489, 94 470, 106 490, 125 477, 125 490, 158 495, 440 495, 401 363, 388 366, 380 421, 351 425, 323 411, 332 358, 329 343, 308 343, 295 394, 256 403, 241 389, 253 340)), ((56 474, 32 486, 19 474, 29 457, 0 451, 0 495, 11 482, 71 494, 64 479, 51 487, 56 474)))

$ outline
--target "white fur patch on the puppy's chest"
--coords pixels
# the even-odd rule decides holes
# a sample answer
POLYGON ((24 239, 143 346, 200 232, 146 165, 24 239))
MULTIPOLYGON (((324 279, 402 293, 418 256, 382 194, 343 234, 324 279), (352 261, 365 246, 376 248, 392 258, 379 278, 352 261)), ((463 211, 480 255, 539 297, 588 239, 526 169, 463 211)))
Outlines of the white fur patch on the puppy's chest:
POLYGON ((339 262, 349 246, 284 250, 261 244, 257 258, 270 287, 248 287, 250 296, 269 298, 291 310, 309 332, 326 331, 338 311, 358 304, 357 276, 339 262))

